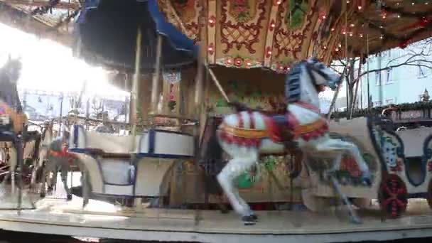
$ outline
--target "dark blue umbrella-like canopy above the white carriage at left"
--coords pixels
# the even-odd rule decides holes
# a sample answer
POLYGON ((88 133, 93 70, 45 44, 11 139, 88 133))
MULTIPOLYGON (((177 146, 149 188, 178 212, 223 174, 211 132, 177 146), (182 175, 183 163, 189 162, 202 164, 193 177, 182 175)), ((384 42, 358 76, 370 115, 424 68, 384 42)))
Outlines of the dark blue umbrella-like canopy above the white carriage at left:
POLYGON ((141 28, 141 68, 154 68, 157 33, 164 38, 162 68, 193 63, 195 45, 169 26, 158 9, 151 9, 147 1, 87 0, 75 28, 75 50, 89 62, 133 70, 137 29, 141 28))

